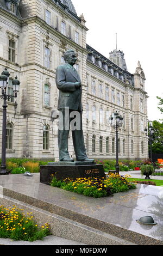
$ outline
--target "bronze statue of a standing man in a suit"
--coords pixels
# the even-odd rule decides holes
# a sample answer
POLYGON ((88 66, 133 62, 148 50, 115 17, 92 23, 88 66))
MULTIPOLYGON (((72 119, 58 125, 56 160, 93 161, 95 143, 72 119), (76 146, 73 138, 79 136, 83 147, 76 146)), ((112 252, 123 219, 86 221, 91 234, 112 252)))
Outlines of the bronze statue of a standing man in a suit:
MULTIPOLYGON (((73 65, 77 54, 73 50, 64 53, 65 64, 56 70, 56 85, 59 89, 58 110, 59 129, 58 147, 60 161, 74 161, 68 153, 68 133, 74 116, 78 117, 72 129, 72 139, 77 161, 94 161, 86 155, 82 130, 82 82, 73 65)), ((74 123, 73 123, 74 124, 74 123)))

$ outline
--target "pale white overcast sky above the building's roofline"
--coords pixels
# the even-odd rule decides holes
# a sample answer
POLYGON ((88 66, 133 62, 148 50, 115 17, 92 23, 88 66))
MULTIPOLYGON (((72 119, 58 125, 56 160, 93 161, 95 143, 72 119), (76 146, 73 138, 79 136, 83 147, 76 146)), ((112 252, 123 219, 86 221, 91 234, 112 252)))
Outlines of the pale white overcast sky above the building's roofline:
POLYGON ((137 62, 145 72, 148 119, 162 119, 157 108, 163 97, 162 0, 72 0, 77 15, 84 14, 87 44, 109 58, 109 52, 122 50, 128 71, 133 74, 137 62))

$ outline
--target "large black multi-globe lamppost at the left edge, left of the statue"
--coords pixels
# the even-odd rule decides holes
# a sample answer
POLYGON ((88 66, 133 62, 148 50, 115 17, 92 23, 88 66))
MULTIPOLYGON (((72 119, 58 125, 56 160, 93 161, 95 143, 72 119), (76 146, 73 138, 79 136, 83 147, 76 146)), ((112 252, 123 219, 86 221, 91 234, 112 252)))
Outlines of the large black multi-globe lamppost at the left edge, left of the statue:
POLYGON ((2 95, 0 95, 1 99, 3 99, 3 121, 2 121, 2 162, 0 168, 0 175, 8 174, 6 170, 6 163, 5 163, 5 149, 6 149, 6 117, 7 117, 7 100, 11 99, 12 97, 17 97, 17 92, 19 90, 20 81, 17 80, 17 76, 14 80, 12 80, 13 86, 13 93, 14 95, 7 95, 7 85, 9 80, 10 73, 5 68, 0 76, 0 88, 2 90, 2 95))

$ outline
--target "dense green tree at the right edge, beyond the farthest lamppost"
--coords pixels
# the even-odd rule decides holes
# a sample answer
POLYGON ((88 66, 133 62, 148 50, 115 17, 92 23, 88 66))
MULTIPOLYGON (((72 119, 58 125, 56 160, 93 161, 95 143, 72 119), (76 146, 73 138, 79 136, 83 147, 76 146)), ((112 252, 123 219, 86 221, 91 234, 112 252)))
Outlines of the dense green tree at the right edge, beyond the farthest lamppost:
POLYGON ((154 120, 153 128, 155 131, 152 139, 152 152, 161 154, 163 153, 163 122, 160 123, 159 121, 154 120))

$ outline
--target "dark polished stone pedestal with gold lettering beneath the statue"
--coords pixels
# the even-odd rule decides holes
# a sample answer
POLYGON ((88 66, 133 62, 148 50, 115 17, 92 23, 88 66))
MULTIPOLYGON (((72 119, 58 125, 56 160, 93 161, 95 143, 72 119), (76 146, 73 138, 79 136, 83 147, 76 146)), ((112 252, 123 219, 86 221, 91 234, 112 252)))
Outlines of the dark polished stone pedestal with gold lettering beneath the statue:
POLYGON ((89 177, 105 177, 102 164, 93 162, 49 162, 45 166, 40 166, 40 182, 50 184, 52 174, 58 180, 66 178, 89 178, 89 177))

